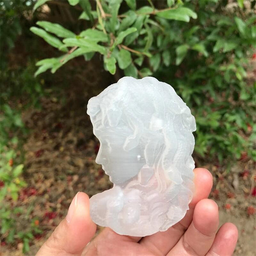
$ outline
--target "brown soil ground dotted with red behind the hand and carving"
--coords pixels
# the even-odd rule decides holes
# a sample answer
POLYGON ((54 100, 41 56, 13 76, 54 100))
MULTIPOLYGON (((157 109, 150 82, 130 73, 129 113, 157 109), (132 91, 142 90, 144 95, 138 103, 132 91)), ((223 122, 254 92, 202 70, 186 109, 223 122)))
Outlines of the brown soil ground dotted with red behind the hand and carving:
MULTIPOLYGON (((23 113, 30 129, 23 145, 24 179, 28 189, 21 192, 19 204, 25 209, 32 208, 29 218, 37 217, 38 227, 43 230, 31 244, 28 255, 35 255, 64 218, 76 192, 84 191, 92 196, 112 186, 101 166, 95 163, 99 143, 86 114, 87 100, 113 82, 102 68, 97 70, 96 73, 94 66, 84 65, 83 71, 72 73, 65 90, 61 93, 53 90, 41 99, 40 111, 30 108, 23 113)), ((199 159, 196 163, 208 168, 214 177, 210 198, 219 206, 220 224, 233 222, 239 229, 234 255, 256 255, 256 223, 252 210, 256 207, 255 163, 245 158, 234 162, 229 172, 225 166, 215 163, 206 164, 199 159)), ((17 217, 17 222, 29 224, 23 216, 17 217)), ((98 232, 100 230, 98 227, 98 232)), ((2 246, 1 255, 22 255, 22 245, 20 242, 13 247, 2 246)))

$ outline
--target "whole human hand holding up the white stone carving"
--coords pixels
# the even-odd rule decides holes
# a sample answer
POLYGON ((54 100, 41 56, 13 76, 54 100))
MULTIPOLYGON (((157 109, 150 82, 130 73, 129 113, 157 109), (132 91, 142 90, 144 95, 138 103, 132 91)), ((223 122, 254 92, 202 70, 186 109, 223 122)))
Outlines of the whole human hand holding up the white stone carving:
POLYGON ((196 168, 194 173, 195 193, 189 210, 168 230, 142 238, 121 236, 105 228, 90 242, 96 224, 90 219, 88 196, 79 192, 73 198, 66 218, 36 256, 232 255, 238 238, 237 228, 232 223, 225 223, 218 229, 218 206, 206 199, 212 189, 212 175, 203 168, 196 168))

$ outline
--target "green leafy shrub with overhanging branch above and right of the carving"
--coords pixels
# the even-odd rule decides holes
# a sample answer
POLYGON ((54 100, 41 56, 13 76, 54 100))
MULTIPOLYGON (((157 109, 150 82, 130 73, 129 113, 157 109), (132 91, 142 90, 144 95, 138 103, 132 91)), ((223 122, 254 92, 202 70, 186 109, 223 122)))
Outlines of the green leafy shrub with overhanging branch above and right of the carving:
MULTIPOLYGON (((46 2, 39 0, 34 9, 46 2)), ((31 31, 62 54, 38 61, 35 75, 54 73, 77 56, 88 61, 97 52, 111 74, 153 74, 175 87, 195 114, 199 156, 221 162, 246 151, 256 159, 255 85, 247 79, 256 41, 255 1, 246 8, 243 0, 235 7, 225 0, 68 2, 81 7, 79 19, 90 28, 75 34, 38 21, 31 31)))

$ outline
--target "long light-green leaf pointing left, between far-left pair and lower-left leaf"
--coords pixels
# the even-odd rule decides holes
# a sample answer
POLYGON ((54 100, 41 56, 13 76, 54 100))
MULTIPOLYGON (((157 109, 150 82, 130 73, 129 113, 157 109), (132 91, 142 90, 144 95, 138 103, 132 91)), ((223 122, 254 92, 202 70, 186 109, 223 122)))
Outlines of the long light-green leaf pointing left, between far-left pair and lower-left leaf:
POLYGON ((106 47, 103 47, 99 44, 96 44, 95 42, 91 42, 89 40, 83 39, 83 38, 66 38, 63 40, 65 46, 70 47, 81 47, 89 49, 89 52, 100 52, 101 54, 105 55, 107 54, 106 47))

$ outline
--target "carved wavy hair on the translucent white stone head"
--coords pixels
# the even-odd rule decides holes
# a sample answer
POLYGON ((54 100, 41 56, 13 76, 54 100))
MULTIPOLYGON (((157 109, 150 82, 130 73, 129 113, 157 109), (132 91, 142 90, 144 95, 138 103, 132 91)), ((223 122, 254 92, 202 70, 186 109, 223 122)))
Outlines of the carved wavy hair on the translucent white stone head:
POLYGON ((125 134, 124 150, 142 145, 147 165, 160 167, 175 183, 192 172, 195 118, 169 84, 124 77, 91 98, 87 113, 96 136, 103 128, 125 134))

